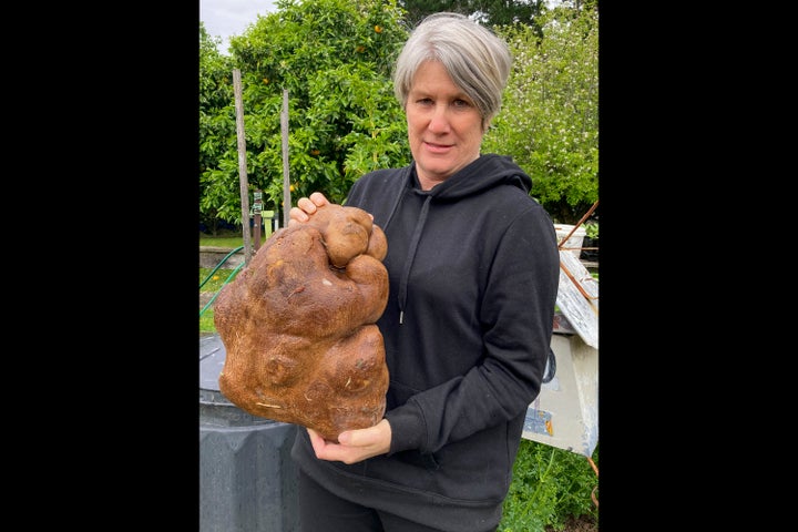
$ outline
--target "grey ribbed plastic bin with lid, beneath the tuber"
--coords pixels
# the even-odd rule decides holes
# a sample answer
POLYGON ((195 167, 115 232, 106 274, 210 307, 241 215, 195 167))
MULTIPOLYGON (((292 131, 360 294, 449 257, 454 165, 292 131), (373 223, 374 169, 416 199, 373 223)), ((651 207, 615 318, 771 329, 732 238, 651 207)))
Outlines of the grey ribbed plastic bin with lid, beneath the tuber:
POLYGON ((252 416, 225 398, 218 335, 200 338, 200 532, 294 532, 296 426, 252 416))

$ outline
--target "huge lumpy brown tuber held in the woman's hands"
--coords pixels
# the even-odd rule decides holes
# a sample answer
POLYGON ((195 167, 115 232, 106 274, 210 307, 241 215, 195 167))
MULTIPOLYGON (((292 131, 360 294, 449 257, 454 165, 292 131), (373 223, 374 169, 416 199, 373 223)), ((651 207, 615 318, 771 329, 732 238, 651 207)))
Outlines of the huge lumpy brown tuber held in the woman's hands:
POLYGON ((388 368, 375 323, 388 303, 387 250, 356 207, 325 205, 275 232, 214 305, 222 393, 332 441, 382 419, 388 368))

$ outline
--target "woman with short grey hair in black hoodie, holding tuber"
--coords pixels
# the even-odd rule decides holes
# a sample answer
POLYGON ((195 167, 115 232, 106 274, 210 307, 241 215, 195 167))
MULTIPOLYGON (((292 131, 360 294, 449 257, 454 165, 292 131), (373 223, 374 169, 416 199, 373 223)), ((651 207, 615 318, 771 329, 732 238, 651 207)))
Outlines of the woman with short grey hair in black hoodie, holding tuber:
MULTIPOLYGON (((412 162, 364 175, 346 201, 388 238, 387 408, 337 443, 297 431, 304 531, 485 532, 501 520, 559 283, 530 177, 480 154, 511 63, 501 39, 454 13, 424 19, 397 60, 412 162)), ((300 198, 290 223, 327 203, 300 198)))

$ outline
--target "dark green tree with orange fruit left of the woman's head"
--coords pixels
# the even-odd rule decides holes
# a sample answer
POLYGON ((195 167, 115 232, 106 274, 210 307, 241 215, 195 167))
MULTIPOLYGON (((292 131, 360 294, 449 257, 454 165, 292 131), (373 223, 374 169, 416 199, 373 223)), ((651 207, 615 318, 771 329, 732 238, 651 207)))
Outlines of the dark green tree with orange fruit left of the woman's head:
MULTIPOLYGON (((279 0, 277 7, 231 39, 228 66, 242 72, 249 188, 264 191, 264 208, 285 208, 280 112, 287 90, 291 194, 321 191, 340 203, 364 173, 409 162, 407 124, 390 81, 407 39, 405 12, 393 0, 279 0)), ((216 163, 203 170, 209 197, 201 211, 238 222, 232 89, 218 98, 224 102, 215 102, 207 121, 218 127, 201 132, 211 135, 201 143, 219 146, 216 163)))

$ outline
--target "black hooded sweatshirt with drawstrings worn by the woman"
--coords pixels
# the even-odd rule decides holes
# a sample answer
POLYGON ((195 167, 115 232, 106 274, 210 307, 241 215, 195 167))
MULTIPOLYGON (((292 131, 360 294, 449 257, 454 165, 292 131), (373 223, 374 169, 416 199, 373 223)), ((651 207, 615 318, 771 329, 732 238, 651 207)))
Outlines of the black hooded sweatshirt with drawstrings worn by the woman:
POLYGON ((392 440, 388 454, 347 466, 316 459, 297 431, 293 457, 321 485, 451 532, 499 523, 559 284, 554 225, 531 186, 494 154, 430 191, 415 164, 352 185, 346 205, 371 213, 388 238, 390 294, 377 325, 392 440))

